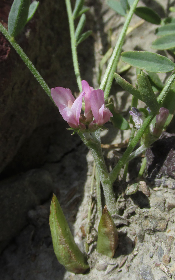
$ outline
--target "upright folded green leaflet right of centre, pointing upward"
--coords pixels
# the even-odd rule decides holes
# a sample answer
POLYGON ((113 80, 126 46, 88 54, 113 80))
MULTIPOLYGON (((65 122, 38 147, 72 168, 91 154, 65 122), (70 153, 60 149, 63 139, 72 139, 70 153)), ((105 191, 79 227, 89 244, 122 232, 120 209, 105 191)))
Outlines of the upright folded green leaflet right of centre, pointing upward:
POLYGON ((137 82, 140 95, 142 96, 143 101, 150 108, 151 111, 158 114, 159 103, 145 72, 142 71, 141 74, 137 75, 137 82))

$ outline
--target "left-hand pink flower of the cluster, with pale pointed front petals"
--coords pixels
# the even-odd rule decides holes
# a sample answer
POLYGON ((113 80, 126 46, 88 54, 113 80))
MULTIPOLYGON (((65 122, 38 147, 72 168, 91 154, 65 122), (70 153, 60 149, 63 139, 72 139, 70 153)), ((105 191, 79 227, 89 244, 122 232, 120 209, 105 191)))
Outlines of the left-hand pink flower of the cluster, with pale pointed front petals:
MULTIPOLYGON (((79 119, 82 107, 82 98, 85 95, 85 92, 75 99, 71 93, 71 90, 63 87, 55 87, 51 89, 51 96, 53 101, 57 105, 60 114, 64 120, 67 121, 70 127, 77 129, 79 127, 79 119)), ((83 124, 81 124, 84 126, 83 124)), ((85 126, 84 126, 85 128, 85 126)))

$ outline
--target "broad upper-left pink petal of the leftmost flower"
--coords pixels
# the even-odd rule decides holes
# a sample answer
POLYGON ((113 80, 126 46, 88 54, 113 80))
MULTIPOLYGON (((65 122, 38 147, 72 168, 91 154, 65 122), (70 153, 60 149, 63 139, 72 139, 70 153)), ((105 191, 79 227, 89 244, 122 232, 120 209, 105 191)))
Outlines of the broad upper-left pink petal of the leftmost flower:
POLYGON ((53 101, 59 107, 61 104, 68 104, 68 101, 71 100, 72 102, 75 101, 74 96, 71 93, 69 88, 64 88, 61 86, 57 86, 51 89, 51 96, 53 101))

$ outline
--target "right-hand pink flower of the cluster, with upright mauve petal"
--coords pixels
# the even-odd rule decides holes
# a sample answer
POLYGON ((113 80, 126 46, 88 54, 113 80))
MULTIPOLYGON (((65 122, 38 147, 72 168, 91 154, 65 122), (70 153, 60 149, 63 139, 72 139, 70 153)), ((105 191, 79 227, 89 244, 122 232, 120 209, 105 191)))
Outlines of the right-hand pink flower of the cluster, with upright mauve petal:
POLYGON ((89 100, 92 114, 94 116, 93 123, 102 126, 108 122, 110 117, 113 117, 113 114, 104 107, 104 92, 102 90, 97 89, 91 91, 89 100))

